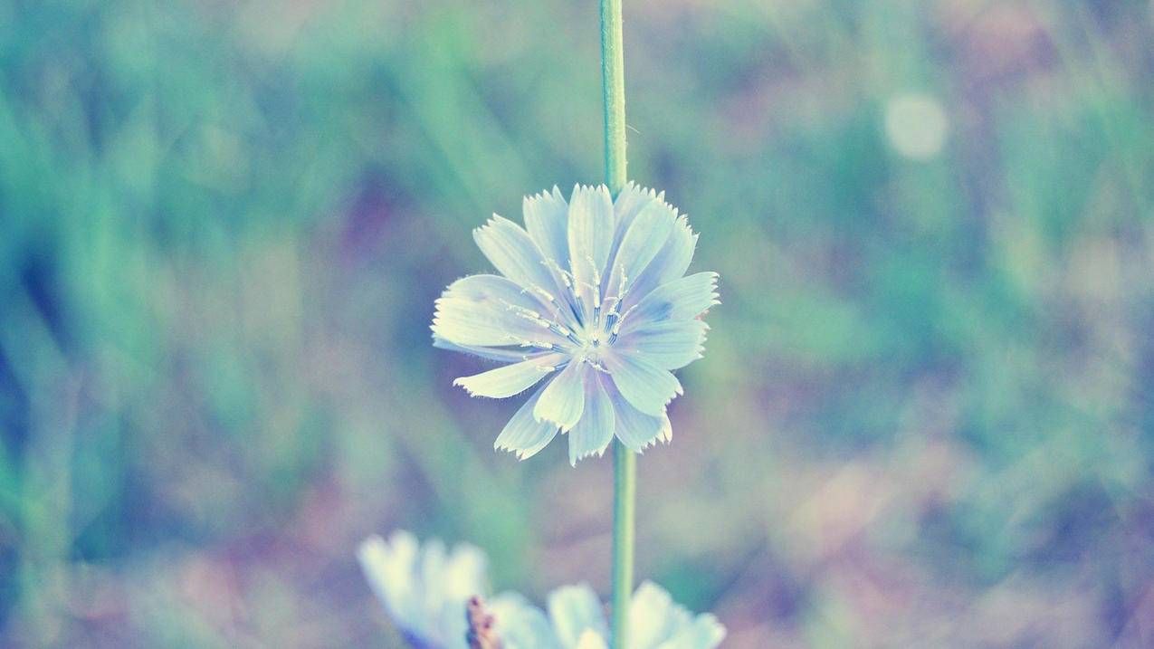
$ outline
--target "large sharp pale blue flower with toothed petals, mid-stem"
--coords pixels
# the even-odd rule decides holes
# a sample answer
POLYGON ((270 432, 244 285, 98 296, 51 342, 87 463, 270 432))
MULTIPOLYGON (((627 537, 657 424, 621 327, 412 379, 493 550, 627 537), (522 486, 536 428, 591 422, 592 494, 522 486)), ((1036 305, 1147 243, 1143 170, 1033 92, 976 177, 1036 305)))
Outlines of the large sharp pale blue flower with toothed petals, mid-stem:
POLYGON ((674 370, 702 357, 717 274, 683 276, 697 236, 665 194, 630 184, 524 200, 525 229, 493 215, 473 231, 501 275, 473 275, 436 301, 434 345, 504 363, 454 381, 473 396, 544 381, 495 448, 519 460, 569 434, 569 461, 601 455, 614 435, 640 452, 673 433, 674 370))

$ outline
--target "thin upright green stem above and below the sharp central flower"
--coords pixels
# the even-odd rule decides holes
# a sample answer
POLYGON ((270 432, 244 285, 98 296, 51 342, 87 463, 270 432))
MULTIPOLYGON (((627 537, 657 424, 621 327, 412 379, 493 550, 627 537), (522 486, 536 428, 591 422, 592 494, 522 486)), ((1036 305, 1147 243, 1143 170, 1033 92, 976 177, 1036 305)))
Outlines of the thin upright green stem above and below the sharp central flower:
MULTIPOLYGON (((605 106, 605 184, 616 196, 625 187, 625 58, 621 0, 601 0, 601 90, 605 106)), ((613 442, 613 649, 629 636, 634 591, 634 509, 637 455, 613 442)))

